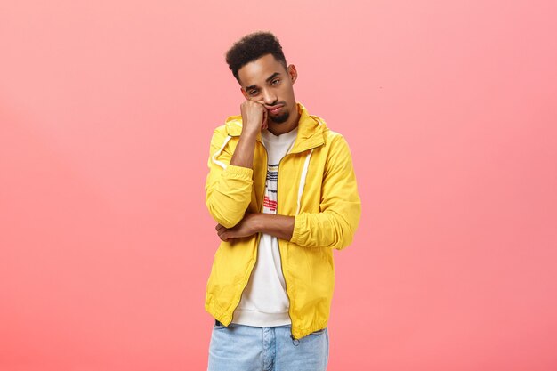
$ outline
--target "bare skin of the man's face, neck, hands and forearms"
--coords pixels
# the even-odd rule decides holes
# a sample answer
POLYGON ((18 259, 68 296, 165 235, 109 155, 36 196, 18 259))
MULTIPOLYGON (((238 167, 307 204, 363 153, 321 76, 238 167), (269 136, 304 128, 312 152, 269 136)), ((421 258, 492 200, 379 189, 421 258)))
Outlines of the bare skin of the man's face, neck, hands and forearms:
MULTIPOLYGON (((230 165, 253 168, 257 134, 264 129, 280 135, 295 129, 300 119, 293 85, 297 78, 294 65, 285 66, 272 56, 238 69, 241 92, 246 98, 240 105, 243 128, 230 165)), ((222 241, 265 233, 290 240, 294 232, 295 217, 279 214, 252 213, 232 228, 217 224, 215 230, 222 241)))

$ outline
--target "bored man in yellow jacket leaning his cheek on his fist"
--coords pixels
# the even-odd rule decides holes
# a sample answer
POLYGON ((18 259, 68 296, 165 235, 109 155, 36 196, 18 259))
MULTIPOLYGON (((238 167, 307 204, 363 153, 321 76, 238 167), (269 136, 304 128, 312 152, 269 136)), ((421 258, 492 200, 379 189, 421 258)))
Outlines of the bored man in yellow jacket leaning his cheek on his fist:
POLYGON ((333 249, 360 200, 343 136, 295 101, 297 72, 268 32, 226 54, 245 101, 214 130, 206 206, 222 239, 206 287, 209 370, 325 370, 333 249))

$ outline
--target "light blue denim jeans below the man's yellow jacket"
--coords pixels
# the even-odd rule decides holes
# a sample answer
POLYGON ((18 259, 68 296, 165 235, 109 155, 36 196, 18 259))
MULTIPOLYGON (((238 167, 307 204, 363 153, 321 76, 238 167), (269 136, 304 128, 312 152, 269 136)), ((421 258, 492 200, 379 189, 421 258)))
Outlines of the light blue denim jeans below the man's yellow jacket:
POLYGON ((207 371, 325 371, 329 353, 327 328, 302 339, 290 337, 291 325, 213 326, 207 371))

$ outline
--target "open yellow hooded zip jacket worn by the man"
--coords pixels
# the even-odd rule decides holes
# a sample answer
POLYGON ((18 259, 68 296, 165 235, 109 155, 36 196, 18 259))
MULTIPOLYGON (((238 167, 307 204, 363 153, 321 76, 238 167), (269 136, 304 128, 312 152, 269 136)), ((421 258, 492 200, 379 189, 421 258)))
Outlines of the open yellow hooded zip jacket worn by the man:
MULTIPOLYGON (((333 249, 351 244, 361 212, 351 152, 343 136, 311 116, 302 104, 295 144, 280 161, 277 214, 295 216, 290 241, 278 239, 290 302, 292 337, 300 339, 327 327, 335 268, 333 249)), ((211 139, 206 206, 216 222, 230 228, 245 213, 261 213, 267 151, 261 133, 254 168, 229 165, 242 131, 232 116, 211 139)), ((228 326, 257 259, 260 234, 221 242, 206 286, 205 308, 228 326)))

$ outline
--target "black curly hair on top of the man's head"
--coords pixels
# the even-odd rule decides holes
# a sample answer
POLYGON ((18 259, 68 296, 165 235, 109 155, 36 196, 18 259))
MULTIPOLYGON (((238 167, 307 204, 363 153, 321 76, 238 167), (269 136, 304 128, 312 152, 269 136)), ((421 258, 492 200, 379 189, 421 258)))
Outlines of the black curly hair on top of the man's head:
POLYGON ((226 62, 239 83, 238 69, 266 54, 272 54, 287 69, 287 59, 277 36, 264 31, 246 35, 234 43, 226 52, 226 62))

